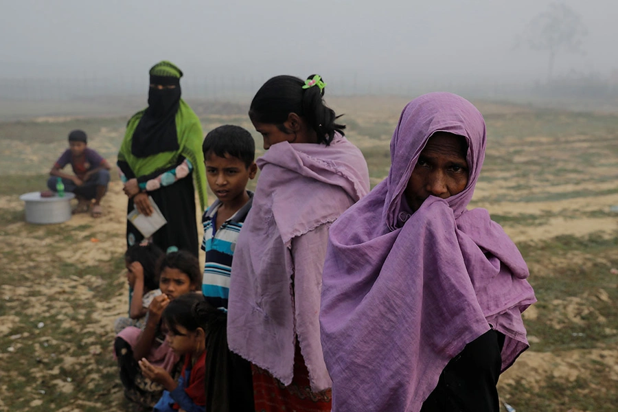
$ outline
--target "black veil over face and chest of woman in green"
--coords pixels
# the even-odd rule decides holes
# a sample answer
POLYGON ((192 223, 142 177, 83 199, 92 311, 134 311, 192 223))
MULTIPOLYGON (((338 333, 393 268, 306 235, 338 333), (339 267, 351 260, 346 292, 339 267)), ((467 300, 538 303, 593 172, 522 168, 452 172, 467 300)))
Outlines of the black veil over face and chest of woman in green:
POLYGON ((148 157, 179 149, 176 112, 180 107, 180 98, 180 83, 174 89, 150 88, 148 108, 139 119, 131 141, 131 153, 135 157, 148 157))

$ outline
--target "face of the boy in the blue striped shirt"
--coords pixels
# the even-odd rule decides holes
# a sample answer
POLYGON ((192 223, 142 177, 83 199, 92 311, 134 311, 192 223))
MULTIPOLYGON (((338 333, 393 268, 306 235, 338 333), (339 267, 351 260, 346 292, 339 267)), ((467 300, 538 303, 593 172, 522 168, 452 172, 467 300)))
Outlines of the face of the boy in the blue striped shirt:
POLYGON ((207 155, 204 163, 210 190, 225 205, 235 205, 244 199, 247 182, 258 172, 255 162, 247 168, 244 161, 227 154, 225 157, 218 157, 211 153, 207 155))

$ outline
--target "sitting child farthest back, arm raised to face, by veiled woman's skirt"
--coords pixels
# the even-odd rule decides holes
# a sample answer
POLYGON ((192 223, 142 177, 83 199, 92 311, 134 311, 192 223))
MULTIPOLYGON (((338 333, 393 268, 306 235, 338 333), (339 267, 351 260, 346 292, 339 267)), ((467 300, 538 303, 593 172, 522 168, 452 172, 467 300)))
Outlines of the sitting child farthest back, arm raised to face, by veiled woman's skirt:
POLYGON ((150 302, 161 295, 157 262, 162 255, 163 251, 152 243, 134 244, 124 254, 129 285, 129 315, 116 319, 114 330, 117 334, 128 326, 140 329, 144 326, 150 302))

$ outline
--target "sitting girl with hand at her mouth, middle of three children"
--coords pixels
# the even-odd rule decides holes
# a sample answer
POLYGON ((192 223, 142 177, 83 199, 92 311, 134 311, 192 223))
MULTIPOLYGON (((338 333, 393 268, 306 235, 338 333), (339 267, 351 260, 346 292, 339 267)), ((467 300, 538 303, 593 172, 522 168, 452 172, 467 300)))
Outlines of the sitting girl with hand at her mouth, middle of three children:
POLYGON ((152 406, 161 398, 163 387, 141 374, 138 361, 142 358, 155 366, 163 367, 170 375, 177 376, 180 358, 165 342, 161 331, 161 314, 177 297, 201 290, 202 273, 197 258, 187 251, 171 252, 163 256, 158 264, 161 295, 152 299, 144 326, 124 328, 117 334, 114 352, 120 367, 120 379, 124 395, 128 400, 152 406))

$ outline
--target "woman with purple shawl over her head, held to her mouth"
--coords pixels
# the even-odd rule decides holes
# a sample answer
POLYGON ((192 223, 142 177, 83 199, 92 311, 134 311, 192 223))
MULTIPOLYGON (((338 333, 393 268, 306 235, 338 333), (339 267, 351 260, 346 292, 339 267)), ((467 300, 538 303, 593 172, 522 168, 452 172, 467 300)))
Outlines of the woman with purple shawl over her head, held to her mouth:
POLYGON ((466 209, 485 122, 450 93, 410 102, 391 170, 330 228, 320 313, 339 411, 499 411, 536 299, 515 244, 466 209))

